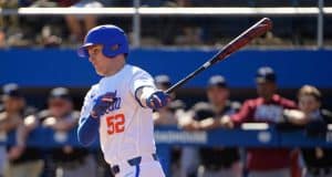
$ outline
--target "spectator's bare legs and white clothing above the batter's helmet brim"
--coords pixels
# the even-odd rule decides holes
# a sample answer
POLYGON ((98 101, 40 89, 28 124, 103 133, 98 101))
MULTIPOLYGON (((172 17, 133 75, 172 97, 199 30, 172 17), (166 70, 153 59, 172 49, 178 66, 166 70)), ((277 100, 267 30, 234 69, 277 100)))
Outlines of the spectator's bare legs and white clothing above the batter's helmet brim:
MULTIPOLYGON (((95 0, 81 0, 73 6, 73 8, 102 8, 103 4, 95 0)), ((70 41, 72 43, 77 43, 79 41, 83 41, 84 33, 96 25, 96 17, 95 15, 66 15, 66 25, 70 29, 71 35, 70 41), (83 20, 84 25, 82 28, 81 20, 83 20)))

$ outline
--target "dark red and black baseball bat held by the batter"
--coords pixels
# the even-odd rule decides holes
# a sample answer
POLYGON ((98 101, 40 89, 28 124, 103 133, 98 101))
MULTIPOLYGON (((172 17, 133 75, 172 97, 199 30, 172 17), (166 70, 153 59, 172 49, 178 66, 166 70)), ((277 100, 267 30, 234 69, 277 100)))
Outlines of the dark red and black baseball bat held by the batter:
POLYGON ((235 53, 242 46, 247 45, 250 41, 252 41, 255 38, 260 37, 272 29, 272 21, 269 18, 262 18, 260 21, 251 25, 249 29, 247 29, 245 32, 242 32, 240 35, 235 38, 232 41, 230 41, 228 44, 226 44, 218 53, 216 53, 211 59, 209 59, 206 63, 204 63, 201 66, 199 66, 197 70, 188 74, 183 80, 178 81, 176 84, 170 86, 168 90, 166 90, 166 93, 172 93, 175 90, 183 86, 185 83, 187 83, 189 80, 191 80, 194 76, 199 74, 200 72, 205 71, 206 69, 210 67, 211 65, 216 64, 219 61, 224 61, 227 59, 230 54, 235 53))

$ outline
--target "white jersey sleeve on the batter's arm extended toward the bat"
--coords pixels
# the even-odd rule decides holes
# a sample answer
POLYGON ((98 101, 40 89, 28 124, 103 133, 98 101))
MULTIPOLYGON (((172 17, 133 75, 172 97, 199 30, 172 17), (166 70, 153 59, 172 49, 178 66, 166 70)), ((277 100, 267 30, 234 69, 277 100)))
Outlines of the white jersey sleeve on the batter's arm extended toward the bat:
POLYGON ((149 86, 155 88, 154 79, 145 71, 137 69, 134 71, 133 77, 129 83, 129 91, 135 96, 138 88, 149 86))

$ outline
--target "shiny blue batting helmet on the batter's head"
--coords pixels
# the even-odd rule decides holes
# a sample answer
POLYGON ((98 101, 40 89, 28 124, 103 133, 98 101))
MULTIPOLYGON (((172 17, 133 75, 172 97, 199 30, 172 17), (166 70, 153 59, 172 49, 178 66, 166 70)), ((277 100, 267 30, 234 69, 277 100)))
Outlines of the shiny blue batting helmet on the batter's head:
POLYGON ((79 48, 77 54, 81 58, 89 58, 87 46, 102 44, 103 54, 114 58, 118 54, 128 54, 129 46, 124 31, 112 24, 98 25, 91 29, 84 39, 84 44, 79 48))

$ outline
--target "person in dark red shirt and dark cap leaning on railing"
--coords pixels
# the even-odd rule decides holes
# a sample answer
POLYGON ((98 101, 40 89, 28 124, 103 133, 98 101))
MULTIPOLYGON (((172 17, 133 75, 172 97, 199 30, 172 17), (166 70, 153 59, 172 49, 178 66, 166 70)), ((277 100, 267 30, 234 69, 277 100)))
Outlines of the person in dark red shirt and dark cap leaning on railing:
MULTIPOLYGON (((286 121, 284 114, 297 108, 293 101, 277 94, 277 76, 271 67, 260 67, 256 75, 258 97, 247 100, 240 111, 231 116, 222 116, 218 121, 203 121, 200 128, 216 126, 234 127, 241 123, 277 124, 286 121)), ((298 113, 298 112, 297 112, 298 113)), ((304 116, 288 116, 287 122, 304 124, 304 116)), ((290 154, 287 148, 248 148, 247 169, 249 177, 288 177, 290 176, 290 154)))

